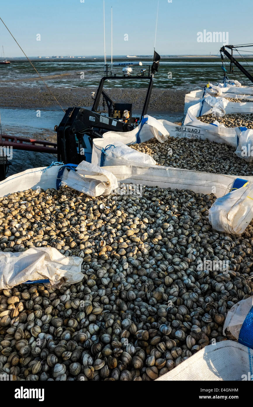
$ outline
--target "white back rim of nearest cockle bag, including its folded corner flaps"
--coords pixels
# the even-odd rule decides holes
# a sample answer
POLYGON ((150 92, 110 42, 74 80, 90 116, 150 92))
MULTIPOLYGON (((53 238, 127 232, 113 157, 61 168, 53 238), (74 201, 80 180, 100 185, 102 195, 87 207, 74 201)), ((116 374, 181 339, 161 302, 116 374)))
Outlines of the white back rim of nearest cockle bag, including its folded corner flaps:
MULTIPOLYGON (((47 177, 48 184, 46 184, 45 179, 43 179, 44 189, 56 188, 59 168, 61 168, 61 166, 58 166, 54 175, 52 175, 52 171, 50 171, 51 175, 47 177)), ((49 168, 49 170, 52 170, 52 168, 49 168)), ((47 168, 35 168, 30 170, 28 177, 26 171, 24 173, 15 174, 15 179, 19 179, 19 188, 16 184, 13 186, 13 177, 5 179, 0 182, 0 196, 6 196, 18 190, 34 188, 38 173, 43 177, 47 171, 47 168), (35 178, 33 178, 33 174, 35 178), (20 186, 24 186, 24 188, 20 188, 20 186)), ((92 196, 95 196, 93 194, 99 194, 100 191, 102 191, 104 195, 110 193, 118 187, 118 182, 158 186, 161 188, 190 189, 195 193, 203 194, 213 192, 216 197, 221 199, 216 199, 216 202, 209 210, 209 219, 212 227, 219 231, 238 234, 244 231, 247 224, 253 218, 253 200, 250 199, 249 195, 249 188, 251 188, 253 184, 253 177, 247 177, 249 183, 246 186, 240 188, 240 185, 238 186, 239 189, 229 193, 231 188, 236 188, 235 180, 238 182, 235 175, 204 173, 164 166, 125 165, 100 168, 85 162, 80 164, 79 174, 76 174, 74 171, 66 173, 66 170, 64 170, 63 173, 63 184, 84 191, 84 193, 89 193, 92 196), (87 167, 88 165, 89 168, 87 167), (93 167, 94 171, 91 171, 91 167, 93 167), (83 170, 81 170, 81 168, 83 168, 83 170), (96 169, 97 171, 95 171, 96 169), (88 178, 85 177, 87 174, 89 174, 88 178), (107 185, 106 182, 109 182, 109 185, 107 185), (227 195, 229 195, 229 197, 227 195), (223 203, 223 199, 225 204, 223 203)), ((246 184, 246 180, 240 181, 246 184)))

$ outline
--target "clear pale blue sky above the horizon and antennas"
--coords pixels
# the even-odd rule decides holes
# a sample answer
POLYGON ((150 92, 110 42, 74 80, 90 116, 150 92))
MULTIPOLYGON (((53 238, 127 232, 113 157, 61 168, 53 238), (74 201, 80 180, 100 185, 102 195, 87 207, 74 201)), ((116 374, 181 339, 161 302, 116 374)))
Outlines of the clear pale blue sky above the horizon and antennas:
MULTIPOLYGON (((0 16, 28 56, 103 55, 103 0, 3 1, 0 16), (41 41, 36 35, 41 35, 41 41)), ((157 0, 106 0, 106 51, 110 55, 110 7, 113 54, 151 55, 157 0), (124 35, 128 34, 128 41, 124 35)), ((156 50, 164 54, 216 55, 221 43, 197 42, 197 33, 229 33, 229 44, 253 42, 252 0, 159 0, 156 50), (239 15, 238 15, 239 13, 239 15), (243 17, 242 17, 243 15, 243 17), (246 17, 245 17, 246 16, 246 17)), ((22 56, 0 22, 5 56, 22 56)))

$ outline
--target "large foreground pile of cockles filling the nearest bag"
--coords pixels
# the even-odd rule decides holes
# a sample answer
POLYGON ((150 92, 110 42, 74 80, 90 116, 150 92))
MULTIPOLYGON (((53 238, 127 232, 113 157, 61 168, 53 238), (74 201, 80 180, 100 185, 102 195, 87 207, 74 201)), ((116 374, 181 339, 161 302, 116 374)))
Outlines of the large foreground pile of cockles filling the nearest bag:
MULTIPOLYGON (((143 187, 91 198, 61 187, 0 200, 0 248, 83 258, 60 289, 0 290, 0 374, 12 380, 154 380, 215 341, 251 295, 253 226, 212 230, 214 195, 143 187), (201 269, 201 262, 225 261, 201 269)), ((9 380, 11 380, 9 379, 9 380)))

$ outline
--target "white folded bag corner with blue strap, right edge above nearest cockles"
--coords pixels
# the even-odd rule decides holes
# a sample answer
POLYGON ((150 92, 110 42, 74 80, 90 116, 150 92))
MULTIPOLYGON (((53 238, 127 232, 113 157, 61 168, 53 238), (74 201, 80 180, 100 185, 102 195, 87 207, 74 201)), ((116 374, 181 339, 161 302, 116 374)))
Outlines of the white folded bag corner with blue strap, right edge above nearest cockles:
POLYGON ((216 199, 209 221, 218 232, 240 234, 253 219, 253 182, 236 179, 229 193, 216 199))

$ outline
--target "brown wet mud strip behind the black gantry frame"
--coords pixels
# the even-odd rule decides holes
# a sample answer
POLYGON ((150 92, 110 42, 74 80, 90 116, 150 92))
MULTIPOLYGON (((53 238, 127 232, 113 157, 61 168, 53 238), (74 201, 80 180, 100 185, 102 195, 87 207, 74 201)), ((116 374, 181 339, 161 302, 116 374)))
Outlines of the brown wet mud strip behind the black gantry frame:
MULTIPOLYGON (((50 88, 59 101, 63 109, 73 106, 89 107, 93 101, 91 92, 96 92, 97 88, 50 88)), ((40 109, 43 107, 59 108, 59 105, 54 100, 53 96, 45 87, 29 88, 29 87, 8 87, 1 86, 0 92, 0 107, 23 107, 40 109)), ((174 89, 156 89, 153 88, 149 103, 149 112, 154 111, 170 111, 183 112, 184 96, 188 92, 186 90, 174 89)), ((108 94, 112 99, 122 103, 124 101, 132 101, 135 109, 142 109, 145 101, 146 89, 108 89, 108 94)))

